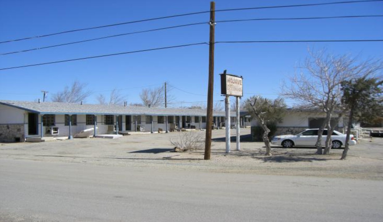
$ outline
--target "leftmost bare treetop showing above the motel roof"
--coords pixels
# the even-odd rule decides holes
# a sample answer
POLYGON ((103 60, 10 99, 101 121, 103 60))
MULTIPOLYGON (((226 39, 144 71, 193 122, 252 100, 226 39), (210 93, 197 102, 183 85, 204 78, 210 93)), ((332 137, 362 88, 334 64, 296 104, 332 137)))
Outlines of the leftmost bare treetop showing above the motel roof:
POLYGON ((84 101, 90 94, 92 94, 91 91, 85 90, 86 86, 87 84, 85 83, 75 81, 70 88, 65 86, 64 91, 54 94, 52 102, 77 103, 84 101))

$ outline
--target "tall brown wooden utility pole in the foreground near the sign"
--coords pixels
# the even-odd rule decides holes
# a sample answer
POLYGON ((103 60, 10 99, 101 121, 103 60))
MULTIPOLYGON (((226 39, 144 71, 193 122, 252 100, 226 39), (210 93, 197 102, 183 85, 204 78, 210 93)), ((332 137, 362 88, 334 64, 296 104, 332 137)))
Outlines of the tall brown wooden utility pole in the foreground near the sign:
POLYGON ((210 39, 209 39, 209 83, 208 83, 208 109, 206 112, 206 140, 205 160, 210 160, 211 126, 213 125, 213 86, 214 86, 214 26, 215 2, 210 2, 210 39))

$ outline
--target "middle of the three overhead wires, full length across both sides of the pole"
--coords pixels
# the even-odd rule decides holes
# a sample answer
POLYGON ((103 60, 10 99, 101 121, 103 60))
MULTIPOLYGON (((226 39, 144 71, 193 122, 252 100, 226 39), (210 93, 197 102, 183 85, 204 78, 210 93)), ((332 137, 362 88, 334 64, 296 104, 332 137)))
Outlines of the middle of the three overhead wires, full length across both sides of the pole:
MULTIPOLYGON (((236 20, 222 20, 222 21, 216 21, 216 23, 227 23, 227 22, 240 22, 240 21, 268 21, 268 20, 303 20, 303 19, 333 19, 333 18, 368 18, 368 17, 383 17, 383 15, 357 15, 357 16, 329 16, 329 17, 306 17, 306 18, 256 18, 256 19, 236 19, 236 20)), ((131 34, 139 34, 144 32, 152 32, 152 31, 159 31, 159 30, 165 30, 165 29, 173 29, 173 28, 180 28, 185 26, 193 26, 193 25, 199 25, 199 24, 208 24, 207 22, 200 22, 200 23, 191 23, 191 24, 183 24, 178 26, 169 26, 165 28, 158 28, 158 29, 149 29, 144 31, 136 31, 136 32, 129 32, 129 33, 123 33, 123 34, 117 34, 112 36, 105 36, 105 37, 99 37, 95 39, 86 39, 82 41, 77 42, 68 42, 58 45, 50 45, 45 47, 38 47, 34 49, 26 49, 26 50, 20 50, 20 51, 14 51, 14 52, 7 52, 7 53, 1 53, 0 55, 9 55, 14 53, 21 53, 21 52, 29 52, 34 50, 40 50, 40 49, 48 49, 53 47, 59 47, 64 45, 71 45, 71 44, 78 44, 83 42, 90 42, 90 41, 96 41, 101 39, 107 39, 111 37, 119 37, 119 36, 126 36, 131 34)))

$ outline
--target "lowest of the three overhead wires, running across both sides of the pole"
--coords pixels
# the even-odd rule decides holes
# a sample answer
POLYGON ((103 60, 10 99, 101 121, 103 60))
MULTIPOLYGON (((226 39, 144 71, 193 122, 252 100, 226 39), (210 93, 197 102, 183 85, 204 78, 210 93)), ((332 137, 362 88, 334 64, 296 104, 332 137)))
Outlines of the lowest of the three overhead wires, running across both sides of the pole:
MULTIPOLYGON (((292 43, 292 42, 383 42, 383 39, 355 39, 355 40, 280 40, 280 41, 218 41, 214 42, 214 44, 217 43, 292 43)), ((175 46, 168 46, 168 47, 160 47, 160 48, 154 48, 154 49, 144 49, 144 50, 137 50, 137 51, 130 51, 130 52, 121 52, 121 53, 113 53, 108 55, 97 55, 92 57, 84 57, 84 58, 74 58, 74 59, 68 59, 68 60, 61 60, 56 62, 46 62, 46 63, 38 63, 38 64, 32 64, 32 65, 23 65, 23 66, 14 66, 14 67, 8 67, 8 68, 0 68, 0 70, 10 70, 15 68, 24 68, 29 66, 39 66, 39 65, 47 65, 47 64, 53 64, 53 63, 62 63, 62 62, 72 62, 77 60, 85 60, 90 58, 100 58, 100 57, 108 57, 113 55, 123 55, 123 54, 129 54, 129 53, 136 53, 136 52, 148 52, 148 51, 154 51, 154 50, 160 50, 160 49, 172 49, 172 48, 180 48, 180 47, 187 47, 191 45, 202 45, 207 44, 206 42, 200 42, 200 43, 193 43, 193 44, 185 44, 185 45, 175 45, 175 46)))

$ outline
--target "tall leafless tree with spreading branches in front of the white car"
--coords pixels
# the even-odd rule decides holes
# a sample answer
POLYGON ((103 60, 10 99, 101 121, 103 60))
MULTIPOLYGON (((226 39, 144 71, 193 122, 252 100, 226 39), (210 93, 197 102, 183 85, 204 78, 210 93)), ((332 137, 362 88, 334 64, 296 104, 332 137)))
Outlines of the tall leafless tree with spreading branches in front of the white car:
POLYGON ((282 95, 298 100, 303 108, 322 110, 326 114, 325 121, 318 130, 316 148, 317 154, 322 154, 322 133, 327 127, 328 136, 324 154, 329 154, 331 134, 336 127, 331 125, 331 118, 337 112, 336 123, 338 123, 347 111, 341 103, 340 84, 366 72, 376 71, 377 64, 370 60, 357 62, 356 58, 347 55, 329 55, 325 50, 309 53, 310 57, 300 67, 299 75, 290 78, 290 86, 286 84, 282 86, 282 95))

